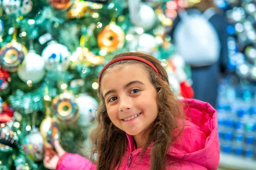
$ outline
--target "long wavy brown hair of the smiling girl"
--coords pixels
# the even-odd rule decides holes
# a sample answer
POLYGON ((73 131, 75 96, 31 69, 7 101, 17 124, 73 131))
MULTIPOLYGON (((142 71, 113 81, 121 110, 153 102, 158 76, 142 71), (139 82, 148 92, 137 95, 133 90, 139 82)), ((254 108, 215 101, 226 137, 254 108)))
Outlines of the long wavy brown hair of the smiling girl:
MULTIPOLYGON (((177 137, 173 135, 173 130, 180 126, 178 121, 184 118, 183 109, 181 109, 182 104, 176 99, 170 89, 167 73, 160 61, 149 54, 141 52, 121 53, 114 56, 113 59, 124 56, 136 56, 146 59, 151 62, 161 74, 162 79, 156 74, 153 68, 136 60, 122 60, 108 67, 139 63, 148 72, 151 83, 157 91, 158 115, 147 129, 147 132, 144 133, 145 139, 148 140, 142 152, 144 153, 146 148, 154 142, 151 148, 151 170, 165 170, 167 150, 175 137, 177 137)), ((104 76, 104 74, 102 76, 104 76)), ((126 151, 128 140, 126 133, 113 125, 109 119, 101 89, 98 90, 98 96, 100 98, 99 107, 96 112, 98 126, 93 130, 90 136, 93 144, 91 160, 97 165, 97 170, 113 170, 116 166, 120 166, 121 158, 126 151), (96 160, 94 159, 95 157, 93 157, 95 153, 97 154, 96 160)))

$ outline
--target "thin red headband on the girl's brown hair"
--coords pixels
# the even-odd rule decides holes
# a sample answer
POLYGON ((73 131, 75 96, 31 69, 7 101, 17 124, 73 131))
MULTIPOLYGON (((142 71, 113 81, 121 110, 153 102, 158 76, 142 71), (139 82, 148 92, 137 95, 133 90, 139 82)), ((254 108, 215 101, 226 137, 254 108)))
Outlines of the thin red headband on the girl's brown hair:
POLYGON ((108 68, 108 66, 112 65, 115 62, 118 62, 118 61, 121 61, 121 60, 127 60, 127 59, 134 59, 134 60, 137 60, 137 61, 144 62, 145 64, 151 66, 159 77, 162 77, 160 75, 159 71, 157 70, 157 68, 151 62, 149 62, 148 60, 140 58, 140 57, 136 57, 136 56, 125 56, 125 57, 119 57, 119 58, 113 59, 111 62, 109 62, 107 65, 105 65, 105 67, 102 69, 101 73, 99 74, 99 87, 100 87, 102 74, 108 68))

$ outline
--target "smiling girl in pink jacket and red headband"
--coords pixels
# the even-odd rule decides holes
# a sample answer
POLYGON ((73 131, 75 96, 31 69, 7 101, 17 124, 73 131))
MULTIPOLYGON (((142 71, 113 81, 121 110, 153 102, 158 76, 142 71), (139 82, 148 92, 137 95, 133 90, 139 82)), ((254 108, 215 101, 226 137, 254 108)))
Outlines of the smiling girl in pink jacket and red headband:
POLYGON ((206 102, 178 100, 161 63, 138 52, 117 54, 99 75, 98 126, 91 161, 46 150, 51 170, 216 170, 217 113, 206 102), (93 154, 97 159, 93 159, 93 154))

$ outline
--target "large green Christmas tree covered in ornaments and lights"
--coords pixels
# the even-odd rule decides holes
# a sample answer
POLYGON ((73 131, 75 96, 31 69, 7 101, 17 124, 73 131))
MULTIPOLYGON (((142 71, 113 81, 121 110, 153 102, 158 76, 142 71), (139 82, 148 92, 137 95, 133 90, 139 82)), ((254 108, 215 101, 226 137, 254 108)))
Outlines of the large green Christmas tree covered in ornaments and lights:
POLYGON ((67 152, 88 156, 98 75, 114 54, 152 54, 178 93, 192 97, 189 69, 169 59, 168 0, 0 2, 1 170, 44 169, 43 144, 56 138, 67 152))

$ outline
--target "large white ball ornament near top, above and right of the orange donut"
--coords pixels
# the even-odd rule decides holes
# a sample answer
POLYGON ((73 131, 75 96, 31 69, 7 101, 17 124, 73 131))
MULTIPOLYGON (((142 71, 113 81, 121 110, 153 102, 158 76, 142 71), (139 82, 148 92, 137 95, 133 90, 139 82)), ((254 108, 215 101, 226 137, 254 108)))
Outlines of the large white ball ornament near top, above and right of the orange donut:
POLYGON ((134 25, 143 28, 145 31, 153 28, 157 20, 154 9, 145 4, 141 5, 138 18, 138 22, 134 25))

